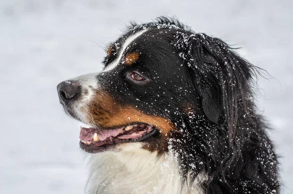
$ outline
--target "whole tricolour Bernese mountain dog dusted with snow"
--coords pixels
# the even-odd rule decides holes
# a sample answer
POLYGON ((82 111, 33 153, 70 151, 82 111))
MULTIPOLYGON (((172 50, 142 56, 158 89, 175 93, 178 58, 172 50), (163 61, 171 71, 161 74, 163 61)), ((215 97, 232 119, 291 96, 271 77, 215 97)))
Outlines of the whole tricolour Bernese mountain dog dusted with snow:
POLYGON ((253 88, 262 71, 166 17, 132 23, 104 69, 57 86, 89 152, 89 194, 279 194, 253 88))

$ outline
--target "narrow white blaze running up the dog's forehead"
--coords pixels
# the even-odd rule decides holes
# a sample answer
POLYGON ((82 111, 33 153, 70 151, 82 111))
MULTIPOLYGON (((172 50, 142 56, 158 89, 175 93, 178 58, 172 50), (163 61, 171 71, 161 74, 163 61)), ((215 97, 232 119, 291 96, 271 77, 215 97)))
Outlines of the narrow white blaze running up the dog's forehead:
POLYGON ((129 36, 126 41, 124 42, 123 44, 123 47, 122 49, 120 50, 120 53, 119 53, 119 56, 112 62, 110 63, 104 70, 103 72, 105 71, 109 71, 109 70, 112 70, 114 69, 116 66, 118 66, 121 62, 121 59, 123 57, 123 53, 124 51, 126 50, 126 48, 129 46, 130 43, 132 43, 137 37, 141 36, 143 33, 146 32, 147 29, 144 29, 142 31, 138 31, 136 32, 135 34, 129 36))

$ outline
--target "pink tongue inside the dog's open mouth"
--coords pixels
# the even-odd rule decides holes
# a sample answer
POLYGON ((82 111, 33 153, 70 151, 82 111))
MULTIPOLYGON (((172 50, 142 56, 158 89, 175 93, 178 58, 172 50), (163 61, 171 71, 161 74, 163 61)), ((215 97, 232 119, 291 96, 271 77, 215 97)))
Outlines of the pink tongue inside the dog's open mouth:
POLYGON ((116 137, 123 128, 124 127, 118 128, 118 129, 110 129, 110 130, 83 128, 81 129, 81 132, 80 132, 80 139, 84 141, 90 141, 93 139, 94 134, 97 133, 99 140, 104 141, 106 138, 110 136, 116 137))

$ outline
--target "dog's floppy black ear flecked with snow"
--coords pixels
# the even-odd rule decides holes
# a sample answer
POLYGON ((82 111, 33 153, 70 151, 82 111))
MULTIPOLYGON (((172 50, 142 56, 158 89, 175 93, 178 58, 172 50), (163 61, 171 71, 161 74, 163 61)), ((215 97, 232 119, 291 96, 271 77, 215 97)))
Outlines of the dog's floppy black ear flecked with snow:
POLYGON ((250 98, 249 80, 253 65, 239 57, 228 44, 205 34, 192 34, 185 43, 185 58, 192 69, 194 86, 210 121, 227 124, 234 136, 238 109, 246 112, 250 98))

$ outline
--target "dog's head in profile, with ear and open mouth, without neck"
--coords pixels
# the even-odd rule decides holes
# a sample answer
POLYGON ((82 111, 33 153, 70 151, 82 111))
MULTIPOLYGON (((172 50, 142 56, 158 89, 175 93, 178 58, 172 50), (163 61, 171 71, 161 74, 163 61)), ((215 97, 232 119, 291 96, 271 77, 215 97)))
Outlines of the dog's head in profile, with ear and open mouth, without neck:
POLYGON ((84 151, 140 142, 162 153, 170 139, 200 145, 207 134, 217 136, 209 126, 233 142, 237 111, 250 112, 252 66, 220 39, 174 20, 132 25, 109 44, 104 65, 57 86, 65 112, 92 126, 81 129, 84 151))

